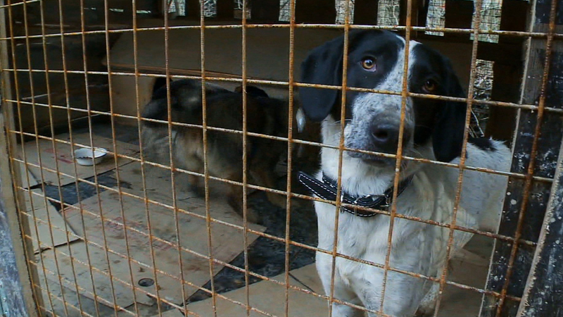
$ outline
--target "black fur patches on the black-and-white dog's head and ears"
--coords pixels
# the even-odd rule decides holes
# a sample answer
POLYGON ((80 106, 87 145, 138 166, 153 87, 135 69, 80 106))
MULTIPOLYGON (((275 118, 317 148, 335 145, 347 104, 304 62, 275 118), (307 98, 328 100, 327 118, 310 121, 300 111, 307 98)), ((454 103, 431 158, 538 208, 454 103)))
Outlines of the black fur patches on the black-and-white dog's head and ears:
MULTIPOLYGON (((397 77, 400 81, 403 68, 396 67, 396 64, 399 60, 403 63, 400 54, 404 54, 404 49, 404 39, 393 32, 379 30, 350 32, 346 76, 348 87, 387 89, 381 88, 381 83, 388 82, 390 77, 397 77)), ((410 50, 408 81, 410 92, 467 97, 448 58, 416 42, 411 42, 410 50)), ((303 83, 339 86, 342 85, 342 74, 343 37, 313 49, 301 65, 303 83)), ((347 92, 346 119, 352 118, 353 108, 359 103, 358 98, 365 94, 347 92)), ((300 89, 303 111, 315 121, 324 120, 329 115, 339 120, 340 97, 340 89, 312 87, 300 89)), ((388 100, 391 99, 388 98, 386 102, 389 102, 388 100)), ((400 99, 393 100, 395 104, 398 103, 393 106, 400 108, 400 101, 396 102, 400 99)), ((383 105, 378 107, 381 108, 383 105)), ((460 156, 466 109, 464 102, 413 98, 414 146, 426 144, 431 138, 434 155, 438 161, 451 161, 460 156)))

